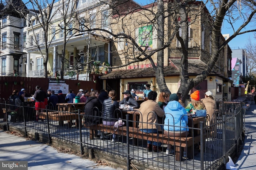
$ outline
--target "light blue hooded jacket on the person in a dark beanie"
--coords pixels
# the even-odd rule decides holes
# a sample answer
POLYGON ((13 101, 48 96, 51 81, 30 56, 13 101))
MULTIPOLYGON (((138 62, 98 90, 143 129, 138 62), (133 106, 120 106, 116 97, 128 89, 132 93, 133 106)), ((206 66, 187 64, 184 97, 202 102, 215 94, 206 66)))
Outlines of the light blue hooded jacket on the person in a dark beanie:
POLYGON ((178 132, 189 130, 185 128, 188 127, 188 114, 179 102, 176 100, 168 102, 167 106, 164 107, 164 113, 164 130, 178 132))

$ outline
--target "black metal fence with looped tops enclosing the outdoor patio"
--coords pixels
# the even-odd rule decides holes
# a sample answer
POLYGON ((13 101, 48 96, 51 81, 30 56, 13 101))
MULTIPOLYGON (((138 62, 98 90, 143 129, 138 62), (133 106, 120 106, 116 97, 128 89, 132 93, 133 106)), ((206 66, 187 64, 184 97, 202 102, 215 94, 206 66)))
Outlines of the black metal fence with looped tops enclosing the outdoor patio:
MULTIPOLYGON (((124 127, 126 128, 123 131, 127 133, 125 135, 123 132, 118 132, 120 131, 118 129, 114 140, 112 140, 113 131, 111 129, 114 129, 112 126, 105 127, 109 128, 109 130, 105 129, 105 133, 95 131, 96 135, 92 136, 90 127, 84 124, 84 114, 86 114, 83 111, 84 109, 76 110, 75 106, 72 106, 69 112, 42 109, 39 121, 36 121, 36 112, 32 102, 26 103, 22 107, 17 107, 10 104, 9 100, 0 99, 0 124, 4 125, 7 130, 18 130, 24 135, 35 134, 35 138, 43 137, 49 144, 54 141, 62 141, 66 146, 76 146, 81 155, 88 154, 93 150, 96 158, 111 160, 112 162, 116 161, 116 164, 127 166, 127 169, 135 166, 138 169, 213 170, 224 166, 228 162, 229 155, 234 156, 234 154, 238 153, 239 141, 242 140, 244 132, 243 106, 243 102, 217 102, 218 109, 214 113, 216 122, 210 125, 206 125, 204 119, 204 121, 197 123, 197 127, 194 127, 196 123, 193 121, 196 119, 190 118, 192 119, 192 126, 189 127, 190 134, 184 140, 188 141, 189 137, 194 140, 192 145, 187 143, 187 145, 191 145, 190 152, 187 152, 185 157, 180 153, 181 156, 183 155, 180 160, 176 157, 177 150, 175 150, 174 154, 166 154, 165 152, 168 147, 166 143, 175 143, 175 146, 169 146, 172 149, 183 145, 181 141, 171 139, 171 137, 170 141, 172 142, 165 141, 163 143, 163 152, 148 151, 146 139, 154 137, 150 137, 148 135, 150 133, 142 133, 138 128, 135 128, 140 123, 138 119, 135 119, 136 116, 140 115, 140 113, 136 113, 138 111, 127 114, 117 110, 116 115, 118 116, 114 121, 118 121, 118 118, 121 118, 125 122, 124 127), (134 129, 132 134, 127 128, 134 129), (212 129, 214 128, 216 132, 212 135, 212 129), (136 138, 138 134, 140 134, 140 138, 136 138), (200 135, 199 142, 196 141, 196 135, 200 135), (114 159, 108 159, 108 157, 114 159)), ((95 117, 99 121, 102 120, 100 115, 95 117)), ((162 124, 163 122, 156 123, 156 125, 162 124)), ((158 132, 155 138, 159 141, 164 141, 163 136, 162 132, 158 132)), ((183 149, 183 147, 181 148, 183 149)), ((180 152, 182 151, 180 150, 180 152)))

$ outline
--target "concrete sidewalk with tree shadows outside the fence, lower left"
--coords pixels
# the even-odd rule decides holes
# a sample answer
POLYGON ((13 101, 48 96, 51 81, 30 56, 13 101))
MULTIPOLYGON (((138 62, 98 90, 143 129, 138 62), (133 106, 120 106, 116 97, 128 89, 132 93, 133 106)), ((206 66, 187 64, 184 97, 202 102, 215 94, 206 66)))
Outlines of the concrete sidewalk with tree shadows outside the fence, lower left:
MULTIPOLYGON (((28 170, 116 170, 98 166, 94 161, 74 154, 58 152, 53 147, 3 130, 0 130, 0 161, 28 161, 28 170)), ((3 169, 2 163, 0 169, 3 169)))

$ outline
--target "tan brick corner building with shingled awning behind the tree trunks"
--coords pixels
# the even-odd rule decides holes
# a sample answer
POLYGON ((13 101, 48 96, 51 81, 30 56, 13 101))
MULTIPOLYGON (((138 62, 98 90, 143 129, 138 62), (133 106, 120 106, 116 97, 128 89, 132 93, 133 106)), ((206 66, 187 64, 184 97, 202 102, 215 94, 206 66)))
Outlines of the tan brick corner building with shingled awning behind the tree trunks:
MULTIPOLYGON (((164 8, 168 9, 168 3, 164 4, 164 8)), ((125 33, 133 37, 136 43, 145 50, 146 54, 157 49, 157 24, 154 20, 154 14, 157 14, 156 4, 143 6, 147 10, 137 10, 129 14, 113 16, 112 31, 115 33, 125 33), (152 12, 153 11, 153 12, 152 12), (116 24, 114 24, 116 23, 116 24)), ((191 78, 201 74, 211 55, 211 27, 208 10, 203 7, 201 2, 190 5, 188 13, 188 73, 191 78)), ((165 16, 168 16, 166 14, 165 16)), ((180 20, 179 18, 177 19, 180 20)), ((164 44, 168 43, 174 29, 174 23, 171 17, 164 19, 164 44), (172 29, 173 28, 173 29, 172 29)), ((181 34, 179 29, 177 33, 181 34)), ((224 42, 224 37, 220 37, 220 41, 224 42)), ((164 78, 168 89, 175 93, 180 87, 179 66, 182 56, 181 45, 177 39, 172 39, 170 45, 164 49, 164 78)), ((142 96, 145 84, 151 84, 151 89, 158 90, 156 83, 156 73, 149 60, 140 61, 140 51, 130 39, 122 39, 114 42, 112 65, 124 65, 122 68, 112 70, 111 73, 101 76, 104 80, 106 88, 115 88, 120 92, 124 90, 135 89, 138 96, 142 96), (129 62, 138 59, 138 62, 129 62), (120 90, 119 90, 120 87, 120 90)), ((157 54, 151 56, 152 61, 156 65, 157 54)), ((215 98, 231 99, 231 50, 228 45, 221 51, 219 59, 215 64, 210 76, 202 83, 194 87, 192 90, 200 89, 203 92, 211 90, 215 98)), ((104 87, 105 88, 105 87, 104 87)), ((120 99, 123 97, 120 93, 120 99)))

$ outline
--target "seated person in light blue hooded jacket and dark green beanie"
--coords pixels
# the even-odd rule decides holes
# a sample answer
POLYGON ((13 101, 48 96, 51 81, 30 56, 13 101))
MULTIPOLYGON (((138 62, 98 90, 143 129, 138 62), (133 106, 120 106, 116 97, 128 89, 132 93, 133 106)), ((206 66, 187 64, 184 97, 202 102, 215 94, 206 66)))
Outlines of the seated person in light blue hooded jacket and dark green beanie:
MULTIPOLYGON (((188 116, 186 109, 181 106, 177 94, 171 94, 167 106, 164 108, 164 134, 168 137, 186 137, 188 135, 188 116), (185 116, 184 116, 185 115, 185 116)), ((173 153, 174 150, 168 145, 166 154, 173 153)), ((186 150, 183 152, 186 157, 186 150)))

